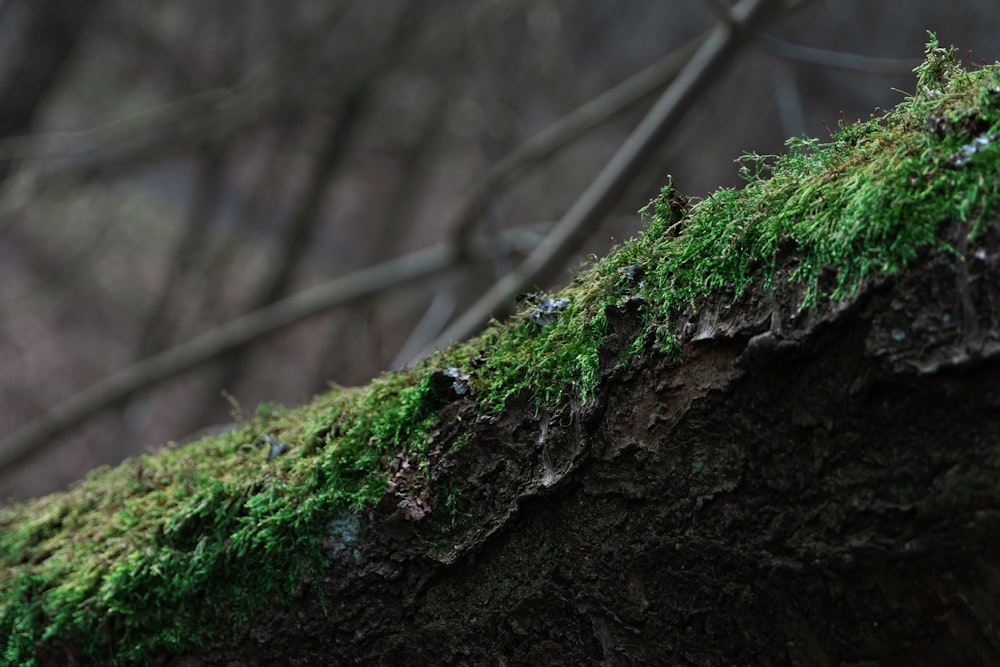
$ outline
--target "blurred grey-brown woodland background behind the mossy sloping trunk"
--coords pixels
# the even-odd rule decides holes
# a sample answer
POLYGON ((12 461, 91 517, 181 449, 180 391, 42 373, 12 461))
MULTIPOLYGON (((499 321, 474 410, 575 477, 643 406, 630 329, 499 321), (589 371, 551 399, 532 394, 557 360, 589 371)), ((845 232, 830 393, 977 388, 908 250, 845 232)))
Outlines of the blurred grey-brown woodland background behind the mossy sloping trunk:
MULTIPOLYGON (((0 502, 412 362, 538 245, 724 8, 0 0, 0 502), (309 288, 309 317, 237 320, 309 288), (220 327, 231 344, 184 372, 122 375, 220 327)), ((893 106, 927 30, 1000 58, 995 0, 779 2, 539 287, 635 234, 668 175, 705 196, 738 184, 743 152, 893 106)))

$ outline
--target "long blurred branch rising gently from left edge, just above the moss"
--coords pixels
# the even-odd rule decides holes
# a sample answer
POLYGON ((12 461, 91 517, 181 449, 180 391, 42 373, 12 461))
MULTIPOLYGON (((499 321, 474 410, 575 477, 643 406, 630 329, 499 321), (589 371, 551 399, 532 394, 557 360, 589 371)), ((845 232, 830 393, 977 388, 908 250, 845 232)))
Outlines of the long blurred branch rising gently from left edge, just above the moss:
MULTIPOLYGON (((536 232, 511 229, 506 242, 526 249, 537 243, 536 232)), ((485 241, 473 243, 472 258, 489 259, 485 241)), ((40 418, 0 440, 0 470, 44 451, 54 439, 137 391, 196 368, 220 355, 249 345, 268 334, 327 310, 371 298, 386 290, 453 268, 449 243, 405 255, 316 285, 266 308, 196 336, 169 350, 143 359, 98 381, 52 407, 40 418)))

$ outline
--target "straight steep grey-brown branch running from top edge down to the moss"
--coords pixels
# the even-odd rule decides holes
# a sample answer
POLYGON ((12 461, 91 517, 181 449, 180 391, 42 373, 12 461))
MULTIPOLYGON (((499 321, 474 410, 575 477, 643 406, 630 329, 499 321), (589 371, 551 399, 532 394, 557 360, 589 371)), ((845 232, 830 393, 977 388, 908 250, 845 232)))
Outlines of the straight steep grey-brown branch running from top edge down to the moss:
MULTIPOLYGON (((731 59, 754 25, 773 7, 768 0, 741 0, 732 20, 717 25, 646 117, 549 235, 515 271, 504 276, 435 341, 443 348, 476 333, 490 317, 509 307, 525 287, 544 282, 573 253, 581 237, 610 211, 621 192, 692 102, 731 59)), ((428 350, 429 352, 430 350, 428 350)))

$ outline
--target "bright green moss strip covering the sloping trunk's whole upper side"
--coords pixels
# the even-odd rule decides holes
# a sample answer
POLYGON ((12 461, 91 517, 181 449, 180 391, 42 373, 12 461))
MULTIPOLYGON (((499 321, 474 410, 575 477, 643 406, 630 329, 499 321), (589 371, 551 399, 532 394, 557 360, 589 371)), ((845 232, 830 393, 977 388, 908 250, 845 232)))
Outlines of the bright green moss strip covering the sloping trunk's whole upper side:
MULTIPOLYGON (((363 539, 350 513, 381 497, 394 457, 427 474, 440 411, 458 394, 482 413, 525 392, 539 406, 592 396, 610 306, 631 304, 644 322, 619 363, 647 342, 680 355, 668 316, 704 296, 735 300, 784 266, 808 308, 850 298, 921 248, 948 250, 943 222, 974 239, 1000 204, 1000 67, 966 72, 932 37, 917 80, 894 110, 844 124, 829 142, 745 156, 742 189, 689 205, 664 188, 643 211, 645 234, 411 370, 295 410, 262 406, 230 433, 3 510, 0 661, 33 664, 36 642, 58 637, 102 663, 141 663, 206 640, 219 609, 235 626, 259 603, 287 599, 363 539), (264 435, 287 451, 269 456, 264 435)), ((437 512, 460 502, 442 495, 437 512)))

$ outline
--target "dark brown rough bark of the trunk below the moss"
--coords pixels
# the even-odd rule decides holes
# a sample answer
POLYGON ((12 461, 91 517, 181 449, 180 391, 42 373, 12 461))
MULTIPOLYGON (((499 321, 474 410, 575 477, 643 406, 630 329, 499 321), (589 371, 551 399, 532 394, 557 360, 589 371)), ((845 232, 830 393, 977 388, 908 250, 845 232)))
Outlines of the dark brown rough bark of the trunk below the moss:
POLYGON ((647 345, 593 401, 480 422, 437 471, 460 525, 390 492, 291 608, 164 660, 1000 664, 1000 226, 945 233, 963 256, 799 314, 720 295, 682 365, 647 345))

